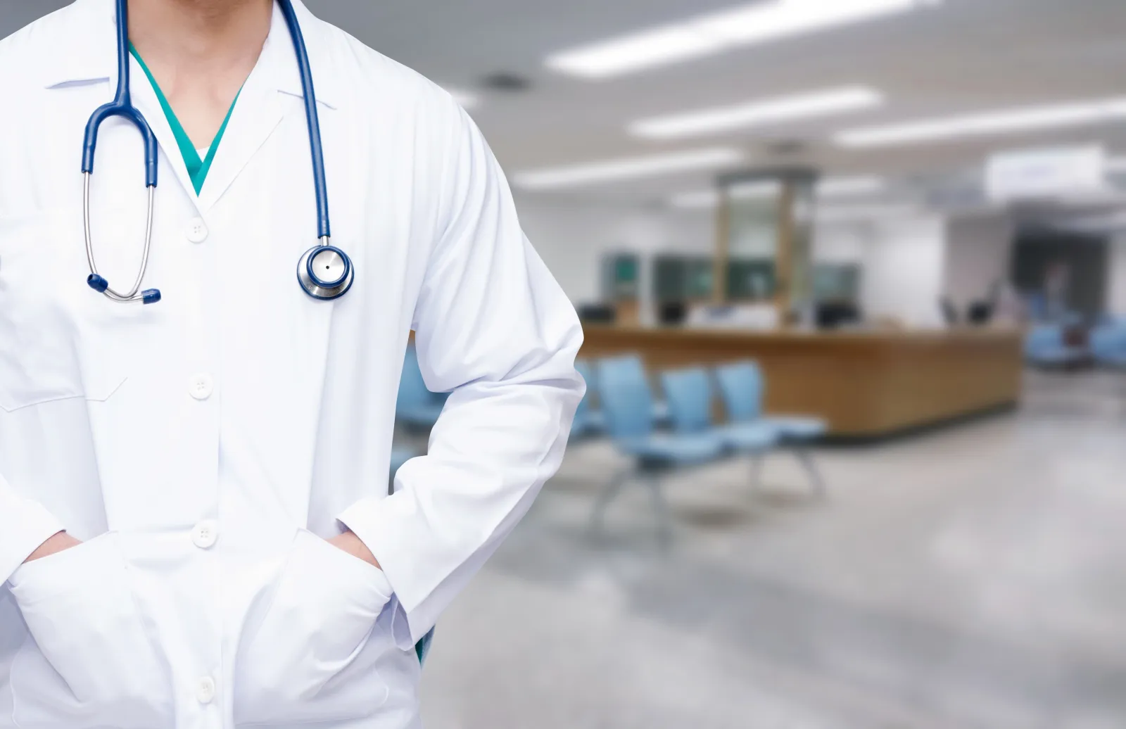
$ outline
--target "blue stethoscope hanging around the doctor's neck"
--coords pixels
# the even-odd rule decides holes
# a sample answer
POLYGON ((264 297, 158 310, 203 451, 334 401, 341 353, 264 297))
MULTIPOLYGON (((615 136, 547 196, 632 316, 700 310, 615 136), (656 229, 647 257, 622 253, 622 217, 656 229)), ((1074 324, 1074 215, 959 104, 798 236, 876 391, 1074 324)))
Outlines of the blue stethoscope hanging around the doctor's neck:
MULTIPOLYGON (((309 146, 313 156, 313 184, 316 188, 316 227, 320 243, 306 251, 297 262, 297 281, 301 288, 315 299, 334 299, 343 296, 351 288, 355 279, 351 259, 348 254, 330 244, 329 233, 329 194, 324 180, 324 150, 321 146, 321 125, 316 116, 316 97, 313 94, 313 74, 309 69, 309 53, 305 51, 305 38, 301 34, 297 16, 294 14, 291 0, 278 0, 293 47, 297 53, 297 69, 301 72, 302 94, 305 98, 305 120, 309 126, 309 146)), ((86 140, 82 144, 82 224, 86 231, 86 258, 90 264, 90 276, 86 282, 95 291, 104 294, 114 302, 142 302, 155 304, 160 300, 158 289, 141 290, 145 271, 149 269, 149 252, 152 249, 152 213, 157 196, 157 136, 144 117, 133 106, 129 94, 129 52, 128 52, 128 3, 117 0, 117 94, 109 104, 98 107, 86 125, 86 140), (93 262, 93 244, 90 241, 90 178, 93 176, 93 151, 98 144, 98 127, 109 117, 125 117, 137 127, 144 137, 145 186, 149 188, 149 214, 145 222, 144 253, 141 258, 141 270, 133 288, 122 294, 109 287, 109 281, 98 273, 93 262)))

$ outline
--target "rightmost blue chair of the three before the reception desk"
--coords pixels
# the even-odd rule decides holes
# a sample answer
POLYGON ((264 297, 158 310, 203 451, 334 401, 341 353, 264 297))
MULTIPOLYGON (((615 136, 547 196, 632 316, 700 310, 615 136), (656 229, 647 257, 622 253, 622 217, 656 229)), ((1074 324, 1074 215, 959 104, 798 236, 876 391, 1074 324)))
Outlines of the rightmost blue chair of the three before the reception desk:
MULTIPOLYGON (((772 429, 779 443, 794 453, 798 462, 810 476, 813 490, 819 496, 825 494, 825 483, 821 471, 813 461, 810 444, 825 434, 828 425, 820 417, 801 415, 763 415, 762 392, 765 382, 759 366, 754 362, 735 362, 725 364, 715 371, 723 396, 724 408, 727 411, 727 428, 738 433, 748 428, 767 426, 772 429)), ((754 459, 754 480, 762 468, 762 456, 754 459)))

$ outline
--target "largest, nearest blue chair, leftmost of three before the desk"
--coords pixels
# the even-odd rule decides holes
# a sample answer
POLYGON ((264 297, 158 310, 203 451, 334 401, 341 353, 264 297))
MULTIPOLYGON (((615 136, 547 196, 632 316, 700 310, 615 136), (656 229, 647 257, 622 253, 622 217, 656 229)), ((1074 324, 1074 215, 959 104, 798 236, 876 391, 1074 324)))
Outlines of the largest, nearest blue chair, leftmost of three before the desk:
POLYGON ((606 429, 618 450, 633 458, 632 467, 617 474, 598 497, 590 522, 599 531, 607 506, 631 480, 649 486, 658 518, 658 537, 672 534, 661 477, 670 470, 708 464, 724 456, 723 441, 711 433, 655 433, 653 394, 641 359, 617 357, 598 363, 599 397, 606 429))

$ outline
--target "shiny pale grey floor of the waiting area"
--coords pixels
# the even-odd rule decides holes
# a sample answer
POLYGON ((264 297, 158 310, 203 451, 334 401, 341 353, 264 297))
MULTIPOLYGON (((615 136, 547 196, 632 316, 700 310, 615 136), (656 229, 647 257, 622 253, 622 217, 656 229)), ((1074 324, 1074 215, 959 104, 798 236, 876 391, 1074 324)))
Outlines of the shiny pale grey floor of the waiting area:
POLYGON ((641 487, 574 447, 448 611, 429 729, 1123 729, 1126 375, 1030 376, 1015 415, 641 487))

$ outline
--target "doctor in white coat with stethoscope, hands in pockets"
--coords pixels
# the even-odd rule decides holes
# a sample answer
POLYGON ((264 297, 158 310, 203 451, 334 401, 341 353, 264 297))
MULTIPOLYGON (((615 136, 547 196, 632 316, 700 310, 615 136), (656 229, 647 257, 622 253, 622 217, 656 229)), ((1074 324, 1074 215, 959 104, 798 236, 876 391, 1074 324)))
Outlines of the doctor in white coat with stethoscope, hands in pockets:
POLYGON ((296 0, 78 0, 0 99, 0 728, 418 727, 583 392, 481 134, 296 0))

